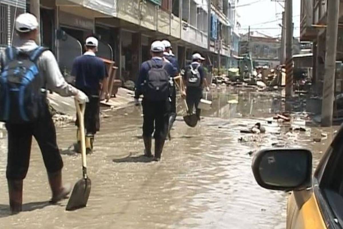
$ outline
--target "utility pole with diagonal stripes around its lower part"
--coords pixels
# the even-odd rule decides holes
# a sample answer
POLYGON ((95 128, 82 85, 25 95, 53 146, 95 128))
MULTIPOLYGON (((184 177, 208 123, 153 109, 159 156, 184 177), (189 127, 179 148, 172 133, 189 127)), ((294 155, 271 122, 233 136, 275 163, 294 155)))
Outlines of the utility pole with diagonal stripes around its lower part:
POLYGON ((293 0, 285 0, 286 11, 286 98, 293 97, 293 0))

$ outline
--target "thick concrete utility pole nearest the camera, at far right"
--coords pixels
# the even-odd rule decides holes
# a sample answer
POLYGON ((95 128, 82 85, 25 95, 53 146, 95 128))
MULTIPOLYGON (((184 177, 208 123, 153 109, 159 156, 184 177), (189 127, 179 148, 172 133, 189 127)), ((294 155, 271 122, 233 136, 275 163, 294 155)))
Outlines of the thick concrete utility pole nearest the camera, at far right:
POLYGON ((340 0, 328 1, 322 126, 332 126, 339 5, 340 0))

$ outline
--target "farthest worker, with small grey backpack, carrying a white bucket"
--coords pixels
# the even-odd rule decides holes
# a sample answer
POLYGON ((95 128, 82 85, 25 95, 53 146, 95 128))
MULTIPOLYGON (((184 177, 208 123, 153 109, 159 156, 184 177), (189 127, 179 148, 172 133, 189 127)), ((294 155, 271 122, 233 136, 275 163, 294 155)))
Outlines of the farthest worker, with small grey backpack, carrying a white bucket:
POLYGON ((192 56, 192 63, 186 68, 184 75, 188 112, 192 113, 193 107, 195 106, 199 120, 201 110, 198 108, 198 105, 202 98, 203 87, 206 87, 206 91, 210 91, 204 68, 201 66, 201 62, 203 60, 205 60, 205 58, 203 58, 199 53, 194 54, 192 56))

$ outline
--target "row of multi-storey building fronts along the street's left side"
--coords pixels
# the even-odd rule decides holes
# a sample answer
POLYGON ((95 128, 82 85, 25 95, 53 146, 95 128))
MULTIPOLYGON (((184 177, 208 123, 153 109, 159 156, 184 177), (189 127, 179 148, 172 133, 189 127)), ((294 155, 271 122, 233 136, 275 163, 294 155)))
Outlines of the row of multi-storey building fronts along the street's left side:
MULTIPOLYGON (((29 12, 30 0, 0 0, 0 45, 12 44, 16 15, 29 12), (15 9, 17 9, 15 11, 15 9)), ((100 57, 115 61, 117 77, 134 81, 141 63, 150 58, 150 44, 169 39, 181 68, 194 52, 206 66, 230 62, 231 0, 40 0, 42 45, 54 51, 67 77, 85 38, 99 38, 100 57)))

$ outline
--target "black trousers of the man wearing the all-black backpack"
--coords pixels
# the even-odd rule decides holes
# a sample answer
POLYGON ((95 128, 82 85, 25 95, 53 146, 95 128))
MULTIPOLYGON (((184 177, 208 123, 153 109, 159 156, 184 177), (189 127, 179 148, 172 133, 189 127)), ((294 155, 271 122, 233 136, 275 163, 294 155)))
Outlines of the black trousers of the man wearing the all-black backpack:
POLYGON ((147 101, 143 99, 143 136, 151 137, 154 133, 155 139, 165 139, 168 132, 170 102, 147 101))

